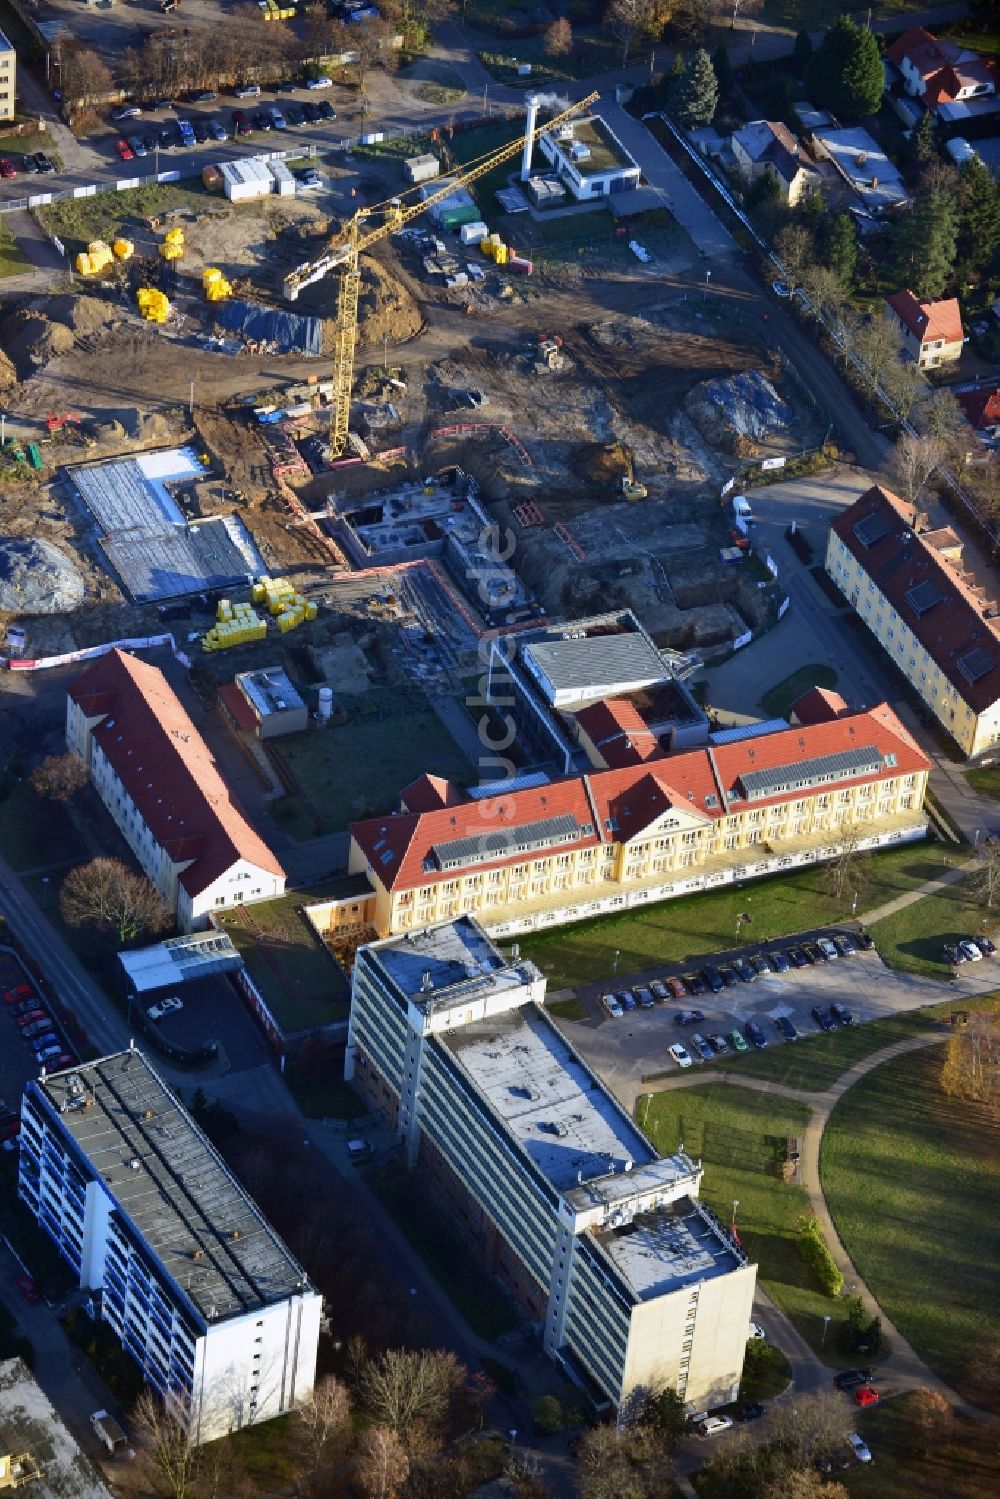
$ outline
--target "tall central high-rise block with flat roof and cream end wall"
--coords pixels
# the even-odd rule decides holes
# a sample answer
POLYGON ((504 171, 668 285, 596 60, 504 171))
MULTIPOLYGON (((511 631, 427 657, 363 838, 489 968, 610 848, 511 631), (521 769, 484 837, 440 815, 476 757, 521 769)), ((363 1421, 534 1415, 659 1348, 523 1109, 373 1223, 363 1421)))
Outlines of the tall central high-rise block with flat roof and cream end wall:
POLYGON ((627 1411, 736 1394, 756 1267, 469 916, 357 953, 346 1076, 390 1121, 546 1351, 627 1411))

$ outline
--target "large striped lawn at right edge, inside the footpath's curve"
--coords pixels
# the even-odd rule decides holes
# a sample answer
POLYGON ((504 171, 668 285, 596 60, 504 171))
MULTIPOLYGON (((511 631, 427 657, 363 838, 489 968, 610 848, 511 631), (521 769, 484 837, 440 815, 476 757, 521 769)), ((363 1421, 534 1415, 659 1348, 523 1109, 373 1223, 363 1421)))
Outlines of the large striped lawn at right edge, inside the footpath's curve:
POLYGON ((859 1274, 918 1354, 964 1391, 978 1337, 1000 1336, 1000 1133, 996 1115, 939 1090, 942 1055, 897 1057, 846 1093, 820 1168, 859 1274))

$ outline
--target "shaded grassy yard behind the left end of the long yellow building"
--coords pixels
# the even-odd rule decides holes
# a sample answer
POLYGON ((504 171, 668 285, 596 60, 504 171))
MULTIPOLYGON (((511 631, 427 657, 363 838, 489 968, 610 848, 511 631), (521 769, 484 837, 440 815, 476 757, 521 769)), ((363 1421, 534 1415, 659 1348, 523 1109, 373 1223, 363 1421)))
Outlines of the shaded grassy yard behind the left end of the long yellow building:
POLYGON ((430 703, 390 691, 370 694, 346 724, 292 735, 271 754, 297 787, 271 806, 292 838, 319 838, 391 812, 400 790, 424 770, 459 785, 474 778, 430 703))

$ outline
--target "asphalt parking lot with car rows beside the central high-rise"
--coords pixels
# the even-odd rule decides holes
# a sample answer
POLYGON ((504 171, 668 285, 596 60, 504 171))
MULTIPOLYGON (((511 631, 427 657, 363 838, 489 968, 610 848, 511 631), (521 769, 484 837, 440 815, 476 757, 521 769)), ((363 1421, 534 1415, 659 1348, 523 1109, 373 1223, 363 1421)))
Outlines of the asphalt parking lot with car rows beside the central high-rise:
MULTIPOLYGON (((639 988, 648 985, 651 979, 694 974, 706 964, 730 967, 733 959, 741 956, 801 949, 802 941, 814 944, 817 937, 832 937, 844 931, 847 928, 805 932, 801 938, 787 937, 772 944, 708 953, 684 965, 664 964, 663 968, 631 977, 628 982, 612 980, 601 986, 595 985, 579 992, 577 998, 585 1004, 588 1019, 573 1024, 570 1036, 604 1082, 631 1108, 643 1091, 643 1076, 679 1070, 669 1054, 669 1048, 675 1043, 679 1042, 685 1048, 694 1067, 702 1063, 697 1046, 691 1043, 694 1033, 726 1037, 732 1030, 742 1033, 747 1022, 756 1021, 768 1046, 790 1046, 796 1042, 784 1040, 775 1021, 792 1021, 799 1039, 817 1036, 820 1027, 811 1015, 814 1006, 829 1010, 832 1004, 843 1004, 850 1010, 853 1024, 864 1025, 867 1021, 921 1009, 924 1004, 940 1004, 948 1000, 963 1003, 976 994, 1000 988, 1000 956, 966 962, 957 970, 954 982, 943 985, 937 979, 888 968, 871 949, 829 961, 820 958, 811 965, 790 967, 787 973, 759 974, 753 982, 736 980, 720 994, 706 986, 702 994, 672 997, 652 1009, 636 1007, 619 1019, 609 1016, 601 1004, 603 992, 639 988), (676 1016, 682 1010, 700 1010, 703 1019, 678 1025, 676 1016)), ((727 1045, 727 1054, 733 1054, 732 1045, 727 1045)))

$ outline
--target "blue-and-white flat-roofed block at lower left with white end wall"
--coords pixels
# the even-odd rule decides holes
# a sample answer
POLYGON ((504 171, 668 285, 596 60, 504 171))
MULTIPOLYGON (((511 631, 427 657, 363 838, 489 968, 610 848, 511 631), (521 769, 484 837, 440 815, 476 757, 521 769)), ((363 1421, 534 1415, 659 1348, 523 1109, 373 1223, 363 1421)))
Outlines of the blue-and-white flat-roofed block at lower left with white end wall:
POLYGON ((196 1444, 312 1391, 322 1300, 142 1052, 28 1082, 18 1193, 196 1444))

